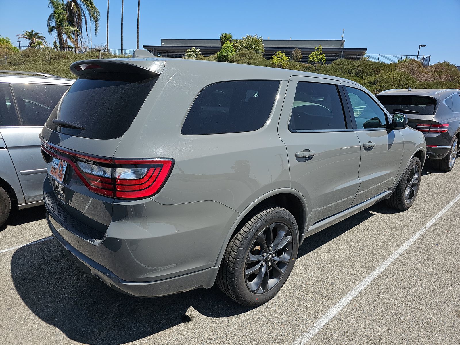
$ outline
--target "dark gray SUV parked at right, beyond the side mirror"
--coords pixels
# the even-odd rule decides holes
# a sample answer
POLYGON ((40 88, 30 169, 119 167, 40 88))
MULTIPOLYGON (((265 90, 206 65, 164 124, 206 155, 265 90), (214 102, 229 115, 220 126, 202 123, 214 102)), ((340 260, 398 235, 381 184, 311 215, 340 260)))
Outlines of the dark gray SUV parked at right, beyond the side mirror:
POLYGON ((428 158, 437 169, 452 170, 460 151, 460 90, 396 89, 375 97, 390 114, 406 113, 409 126, 425 135, 428 158))

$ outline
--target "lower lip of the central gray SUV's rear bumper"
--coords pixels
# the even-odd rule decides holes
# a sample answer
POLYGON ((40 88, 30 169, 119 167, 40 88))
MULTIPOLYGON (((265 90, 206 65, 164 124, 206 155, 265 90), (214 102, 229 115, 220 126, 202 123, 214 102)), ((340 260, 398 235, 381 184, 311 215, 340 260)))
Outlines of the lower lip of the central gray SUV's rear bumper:
POLYGON ((155 282, 129 282, 116 276, 104 266, 99 265, 96 261, 88 258, 72 247, 69 242, 60 235, 61 231, 67 230, 60 227, 56 220, 50 217, 48 212, 46 213, 46 220, 57 243, 75 264, 109 287, 128 295, 137 297, 157 297, 188 291, 194 288, 211 288, 219 270, 219 267, 211 267, 184 276, 155 282), (58 228, 56 229, 56 227, 58 228))

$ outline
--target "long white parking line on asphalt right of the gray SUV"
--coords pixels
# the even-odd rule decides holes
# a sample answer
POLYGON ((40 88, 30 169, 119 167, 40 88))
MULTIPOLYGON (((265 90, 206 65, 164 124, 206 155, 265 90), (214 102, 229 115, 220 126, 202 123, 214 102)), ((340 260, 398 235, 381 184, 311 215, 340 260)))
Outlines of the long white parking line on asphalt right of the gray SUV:
POLYGON ((369 274, 362 282, 360 282, 353 290, 345 295, 343 299, 340 299, 339 302, 329 309, 326 314, 324 314, 318 321, 313 324, 307 333, 302 334, 296 341, 293 342, 293 345, 304 345, 307 343, 311 337, 319 332, 321 328, 326 326, 326 324, 331 321, 331 319, 337 315, 339 311, 342 310, 345 305, 347 305, 354 297, 357 296, 370 282, 372 282, 375 277, 382 273, 385 268, 387 268, 399 255, 401 255, 412 243, 414 243, 426 230, 428 230, 431 225, 433 225, 441 216, 446 213, 450 207, 454 206, 455 202, 460 200, 460 194, 450 201, 449 204, 444 207, 436 216, 434 216, 426 225, 421 228, 414 236, 412 236, 406 243, 404 243, 396 252, 391 254, 391 256, 386 259, 379 267, 377 267, 374 272, 369 274))

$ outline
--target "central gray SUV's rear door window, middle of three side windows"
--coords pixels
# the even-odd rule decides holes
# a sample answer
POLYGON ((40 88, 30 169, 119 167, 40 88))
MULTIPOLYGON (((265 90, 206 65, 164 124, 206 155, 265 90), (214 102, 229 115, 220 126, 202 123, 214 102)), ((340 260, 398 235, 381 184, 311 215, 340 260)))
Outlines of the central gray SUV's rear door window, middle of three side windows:
POLYGON ((295 90, 289 130, 345 129, 345 115, 337 86, 299 81, 295 90))

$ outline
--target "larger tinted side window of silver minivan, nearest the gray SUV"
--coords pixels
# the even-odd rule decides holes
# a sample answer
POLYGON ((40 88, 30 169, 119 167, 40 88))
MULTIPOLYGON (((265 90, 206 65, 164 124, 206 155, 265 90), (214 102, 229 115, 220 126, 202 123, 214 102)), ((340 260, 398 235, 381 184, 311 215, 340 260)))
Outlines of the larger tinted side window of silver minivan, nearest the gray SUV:
POLYGON ((23 126, 43 126, 69 85, 11 84, 23 126))

